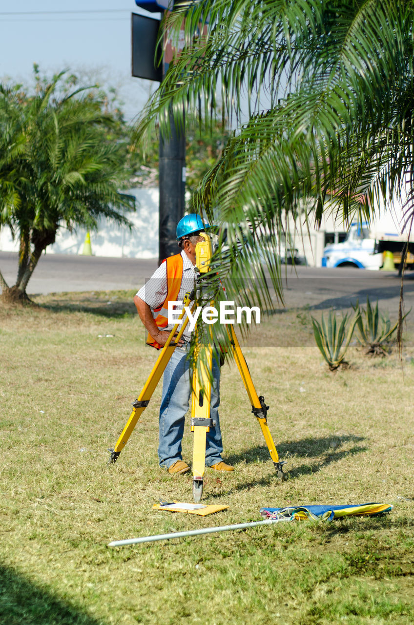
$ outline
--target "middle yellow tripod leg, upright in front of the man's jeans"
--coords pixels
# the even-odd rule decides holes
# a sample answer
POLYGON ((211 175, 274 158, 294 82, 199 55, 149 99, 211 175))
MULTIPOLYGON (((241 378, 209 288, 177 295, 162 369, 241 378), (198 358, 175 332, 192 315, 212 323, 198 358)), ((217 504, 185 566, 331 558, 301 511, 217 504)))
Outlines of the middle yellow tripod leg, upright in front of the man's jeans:
POLYGON ((210 419, 211 382, 206 367, 211 371, 212 347, 201 345, 204 359, 201 358, 198 370, 193 372, 193 392, 191 400, 191 431, 193 442, 193 497, 197 503, 203 495, 204 469, 206 464, 206 435, 213 426, 210 419))

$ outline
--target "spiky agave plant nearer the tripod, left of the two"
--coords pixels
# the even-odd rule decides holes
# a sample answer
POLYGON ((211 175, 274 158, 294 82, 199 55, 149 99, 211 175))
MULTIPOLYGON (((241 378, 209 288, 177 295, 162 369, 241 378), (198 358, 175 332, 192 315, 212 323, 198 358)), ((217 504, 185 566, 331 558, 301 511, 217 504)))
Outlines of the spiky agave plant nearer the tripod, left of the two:
POLYGON ((345 354, 349 347, 359 314, 359 311, 355 312, 355 315, 350 320, 349 326, 348 321, 350 319, 350 314, 348 314, 348 312, 343 315, 339 326, 336 324, 336 315, 332 310, 329 311, 327 323, 325 323, 323 315, 320 323, 316 321, 314 317, 311 317, 316 345, 319 347, 326 362, 328 362, 331 371, 335 371, 341 365, 348 364, 348 362, 345 361, 345 354))

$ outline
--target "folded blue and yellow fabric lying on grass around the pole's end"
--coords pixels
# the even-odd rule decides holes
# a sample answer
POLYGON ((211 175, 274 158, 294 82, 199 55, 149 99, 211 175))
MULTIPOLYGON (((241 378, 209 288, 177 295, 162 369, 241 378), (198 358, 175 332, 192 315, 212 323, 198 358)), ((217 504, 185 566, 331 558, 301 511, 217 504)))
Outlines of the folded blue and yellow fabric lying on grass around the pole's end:
POLYGON ((313 519, 314 521, 333 521, 344 516, 376 516, 391 512, 391 504, 350 504, 348 506, 289 506, 282 508, 260 508, 261 516, 268 519, 313 519))

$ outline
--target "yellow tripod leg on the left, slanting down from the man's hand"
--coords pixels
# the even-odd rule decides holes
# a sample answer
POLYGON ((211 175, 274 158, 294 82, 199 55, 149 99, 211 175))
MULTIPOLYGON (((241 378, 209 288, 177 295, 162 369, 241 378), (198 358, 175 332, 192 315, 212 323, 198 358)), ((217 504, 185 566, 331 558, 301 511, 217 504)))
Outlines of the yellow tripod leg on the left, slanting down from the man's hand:
MULTIPOLYGON (((184 300, 184 305, 188 306, 188 304, 189 304, 189 301, 184 300)), ((191 308, 191 312, 193 311, 194 311, 194 305, 191 308)), ((183 313, 179 316, 180 320, 183 319, 184 314, 185 312, 183 309, 183 313)), ((144 384, 143 390, 139 394, 138 399, 136 399, 133 403, 133 411, 129 415, 129 419, 126 422, 126 425, 123 431, 121 432, 121 436, 119 436, 114 449, 108 449, 108 451, 111 452, 111 457, 109 458, 108 464, 113 464, 113 462, 116 462, 118 460, 118 456, 123 450, 123 448, 125 447, 126 443, 128 442, 129 436, 131 436, 134 430, 134 427, 138 423, 139 417, 141 416, 141 414, 143 414, 144 410, 148 406, 149 400, 151 399, 153 392, 158 386, 158 382, 161 379, 161 376, 163 375, 165 371, 165 367, 167 366, 169 359, 171 358, 173 351, 176 348, 176 344, 178 340, 181 338, 181 336, 183 336, 183 332, 187 324, 188 324, 188 317, 183 319, 183 323, 181 324, 181 326, 179 326, 179 324, 177 323, 171 330, 169 337, 168 337, 168 341, 164 345, 163 349, 161 349, 161 352, 159 353, 156 363, 153 366, 153 370, 149 374, 149 377, 144 384), (178 327, 179 327, 179 331, 178 331, 178 327), (178 333, 176 337, 174 338, 174 335, 176 334, 177 331, 178 333)))

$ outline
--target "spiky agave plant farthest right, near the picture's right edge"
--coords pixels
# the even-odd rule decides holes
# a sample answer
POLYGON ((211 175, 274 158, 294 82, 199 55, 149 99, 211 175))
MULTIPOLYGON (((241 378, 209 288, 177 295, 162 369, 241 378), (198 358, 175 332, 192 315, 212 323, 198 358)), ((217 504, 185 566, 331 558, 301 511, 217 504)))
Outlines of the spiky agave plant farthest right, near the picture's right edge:
MULTIPOLYGON (((356 337, 358 342, 365 347, 365 353, 372 356, 385 356, 390 351, 391 337, 398 327, 398 321, 391 327, 391 321, 388 316, 380 315, 378 312, 378 299, 375 307, 371 306, 370 298, 366 297, 366 309, 360 307, 359 300, 356 300, 353 309, 358 317, 356 324, 360 336, 356 337)), ((405 319, 411 308, 402 317, 405 319)))

